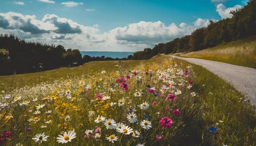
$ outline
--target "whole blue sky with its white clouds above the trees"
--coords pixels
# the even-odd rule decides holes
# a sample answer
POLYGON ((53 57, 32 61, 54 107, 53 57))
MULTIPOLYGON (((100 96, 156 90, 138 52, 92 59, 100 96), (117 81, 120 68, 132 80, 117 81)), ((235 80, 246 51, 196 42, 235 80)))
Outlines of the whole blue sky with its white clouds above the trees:
POLYGON ((235 0, 0 1, 0 32, 80 50, 137 51, 230 18, 235 0))

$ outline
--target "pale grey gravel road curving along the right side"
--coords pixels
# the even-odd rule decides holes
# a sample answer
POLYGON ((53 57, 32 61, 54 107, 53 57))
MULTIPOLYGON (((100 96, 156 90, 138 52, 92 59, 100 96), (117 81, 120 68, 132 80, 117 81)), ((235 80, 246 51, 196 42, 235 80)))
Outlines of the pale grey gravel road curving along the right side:
POLYGON ((252 105, 256 105, 256 69, 197 58, 182 58, 174 55, 172 57, 186 60, 208 69, 245 94, 252 105))

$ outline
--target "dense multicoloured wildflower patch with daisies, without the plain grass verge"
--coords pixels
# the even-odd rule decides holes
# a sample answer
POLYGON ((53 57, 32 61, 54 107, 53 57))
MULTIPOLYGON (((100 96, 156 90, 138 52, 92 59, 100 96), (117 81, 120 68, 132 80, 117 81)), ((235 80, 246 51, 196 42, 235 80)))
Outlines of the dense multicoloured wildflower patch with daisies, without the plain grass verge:
POLYGON ((197 144, 201 129, 218 137, 221 119, 198 126, 203 106, 190 64, 165 58, 113 68, 3 90, 0 145, 197 144))

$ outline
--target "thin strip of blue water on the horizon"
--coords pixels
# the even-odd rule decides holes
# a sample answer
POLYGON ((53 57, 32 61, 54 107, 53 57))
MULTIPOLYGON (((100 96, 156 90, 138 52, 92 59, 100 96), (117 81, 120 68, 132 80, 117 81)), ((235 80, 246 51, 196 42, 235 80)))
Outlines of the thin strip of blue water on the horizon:
POLYGON ((111 57, 111 58, 127 58, 133 52, 104 52, 104 51, 80 51, 82 57, 89 55, 90 57, 111 57))

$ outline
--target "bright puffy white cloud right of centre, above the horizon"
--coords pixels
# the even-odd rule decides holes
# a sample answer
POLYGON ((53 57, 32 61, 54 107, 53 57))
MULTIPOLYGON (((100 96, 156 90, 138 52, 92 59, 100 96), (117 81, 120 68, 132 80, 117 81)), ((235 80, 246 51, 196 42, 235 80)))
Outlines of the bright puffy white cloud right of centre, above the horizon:
POLYGON ((166 43, 179 36, 188 35, 194 29, 208 26, 208 19, 198 18, 193 26, 181 23, 179 26, 172 23, 166 26, 161 21, 129 24, 126 27, 117 27, 110 30, 114 34, 118 43, 121 44, 156 44, 166 43))

